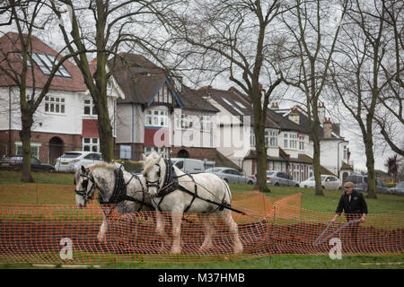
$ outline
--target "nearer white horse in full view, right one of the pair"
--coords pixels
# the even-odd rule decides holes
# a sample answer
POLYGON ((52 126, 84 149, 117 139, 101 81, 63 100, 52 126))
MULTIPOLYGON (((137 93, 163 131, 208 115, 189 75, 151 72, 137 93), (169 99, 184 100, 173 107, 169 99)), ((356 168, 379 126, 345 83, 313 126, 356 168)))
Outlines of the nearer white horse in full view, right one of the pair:
POLYGON ((231 212, 234 210, 231 207, 232 195, 222 178, 213 173, 186 174, 172 166, 171 161, 162 159, 156 152, 152 152, 147 158, 143 155, 143 158, 143 175, 148 193, 152 196, 152 204, 156 208, 156 231, 163 239, 167 239, 167 236, 161 212, 171 213, 171 253, 181 251, 180 224, 183 213, 198 213, 204 225, 205 239, 200 251, 212 247, 213 225, 216 220, 220 220, 231 231, 234 254, 242 253, 242 241, 231 212))

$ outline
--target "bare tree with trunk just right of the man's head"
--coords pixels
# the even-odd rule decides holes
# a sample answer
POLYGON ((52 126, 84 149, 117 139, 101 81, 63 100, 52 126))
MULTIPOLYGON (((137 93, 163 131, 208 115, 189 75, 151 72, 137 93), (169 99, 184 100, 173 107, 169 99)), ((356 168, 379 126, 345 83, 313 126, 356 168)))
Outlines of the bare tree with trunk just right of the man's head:
POLYGON ((386 13, 382 1, 356 1, 352 5, 331 72, 335 91, 361 130, 368 174, 367 197, 371 198, 376 198, 374 120, 381 112, 382 91, 389 85, 382 77, 382 64, 386 63, 386 51, 392 40, 383 20, 386 13))

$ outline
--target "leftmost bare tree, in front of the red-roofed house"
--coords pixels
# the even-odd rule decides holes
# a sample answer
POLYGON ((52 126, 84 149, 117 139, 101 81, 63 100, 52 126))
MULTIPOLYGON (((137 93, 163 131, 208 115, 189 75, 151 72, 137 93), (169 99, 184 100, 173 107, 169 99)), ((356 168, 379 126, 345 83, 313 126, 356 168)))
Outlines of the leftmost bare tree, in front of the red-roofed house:
POLYGON ((4 35, 4 41, 9 48, 0 49, 0 73, 19 89, 22 129, 22 181, 32 182, 31 175, 31 128, 34 124, 34 114, 40 102, 48 93, 52 80, 58 68, 69 57, 62 57, 60 53, 55 57, 52 70, 45 83, 36 82, 35 73, 41 73, 34 68, 32 57, 32 37, 36 30, 44 30, 51 21, 50 17, 41 14, 46 1, 15 1, 3 2, 0 14, 7 19, 1 26, 14 25, 18 37, 4 35))

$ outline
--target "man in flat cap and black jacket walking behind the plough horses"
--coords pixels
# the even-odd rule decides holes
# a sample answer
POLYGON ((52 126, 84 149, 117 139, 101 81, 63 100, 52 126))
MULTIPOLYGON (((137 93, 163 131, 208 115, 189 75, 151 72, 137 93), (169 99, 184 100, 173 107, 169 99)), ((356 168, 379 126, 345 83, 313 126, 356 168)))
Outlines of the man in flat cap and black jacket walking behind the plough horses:
MULTIPOLYGON (((331 222, 335 222, 341 215, 342 211, 345 212, 347 222, 353 220, 359 220, 364 222, 367 214, 367 204, 364 200, 364 196, 360 192, 354 190, 354 184, 350 181, 344 184, 345 193, 339 199, 336 214, 331 222)), ((357 232, 359 230, 359 222, 353 222, 350 225, 351 237, 354 243, 357 242, 357 232)))

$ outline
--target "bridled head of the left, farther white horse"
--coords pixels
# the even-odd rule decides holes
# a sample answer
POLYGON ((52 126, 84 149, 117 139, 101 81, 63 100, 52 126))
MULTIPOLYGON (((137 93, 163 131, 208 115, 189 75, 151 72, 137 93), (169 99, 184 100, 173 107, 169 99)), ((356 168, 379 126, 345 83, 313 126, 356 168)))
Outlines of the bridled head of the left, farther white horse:
POLYGON ((94 178, 90 169, 83 166, 75 170, 75 204, 78 207, 85 207, 92 200, 95 190, 94 178))

